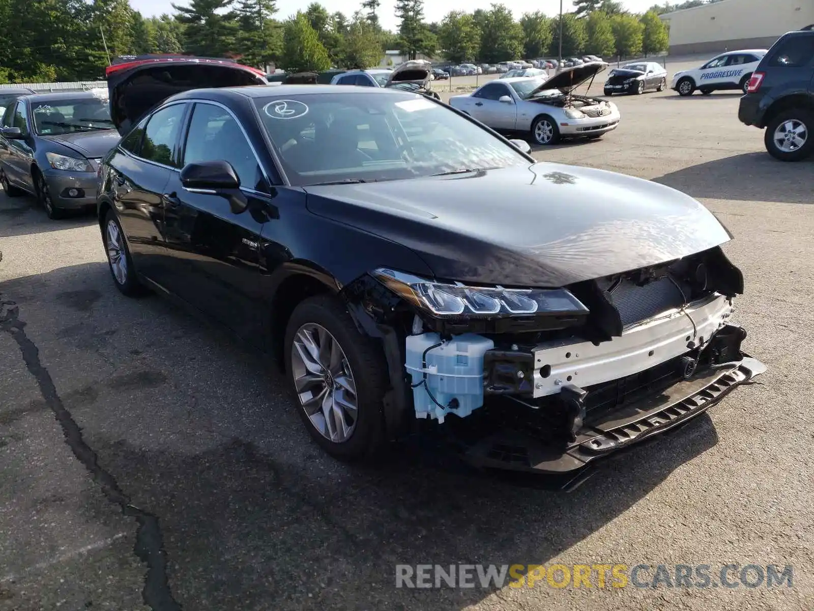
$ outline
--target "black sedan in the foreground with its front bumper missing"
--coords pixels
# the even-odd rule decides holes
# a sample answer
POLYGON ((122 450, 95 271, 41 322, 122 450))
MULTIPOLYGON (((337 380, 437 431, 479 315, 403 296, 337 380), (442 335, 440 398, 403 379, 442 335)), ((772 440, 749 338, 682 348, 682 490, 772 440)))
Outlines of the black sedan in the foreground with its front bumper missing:
POLYGON ((479 466, 571 473, 764 371, 731 235, 689 196, 538 163, 420 94, 217 69, 164 100, 111 81, 112 279, 272 354, 331 455, 432 429, 479 466))

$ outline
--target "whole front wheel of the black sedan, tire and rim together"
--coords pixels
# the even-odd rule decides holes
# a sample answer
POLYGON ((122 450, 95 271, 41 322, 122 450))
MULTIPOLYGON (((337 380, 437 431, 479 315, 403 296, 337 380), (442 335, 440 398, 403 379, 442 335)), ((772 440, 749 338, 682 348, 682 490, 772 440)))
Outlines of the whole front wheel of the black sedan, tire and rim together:
POLYGON ((313 440, 335 459, 377 455, 385 440, 385 358, 340 301, 321 295, 295 308, 285 359, 297 411, 313 440))

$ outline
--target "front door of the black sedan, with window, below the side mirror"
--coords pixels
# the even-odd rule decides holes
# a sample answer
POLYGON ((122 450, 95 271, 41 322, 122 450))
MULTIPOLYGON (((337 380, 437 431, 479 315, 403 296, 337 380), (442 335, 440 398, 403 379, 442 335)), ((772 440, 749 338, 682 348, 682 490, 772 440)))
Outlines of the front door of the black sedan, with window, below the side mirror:
POLYGON ((235 213, 225 196, 186 189, 173 172, 164 189, 169 287, 239 336, 260 341, 267 314, 260 290, 260 234, 274 210, 273 191, 236 116, 221 104, 196 102, 182 165, 212 160, 234 167, 247 209, 235 213))

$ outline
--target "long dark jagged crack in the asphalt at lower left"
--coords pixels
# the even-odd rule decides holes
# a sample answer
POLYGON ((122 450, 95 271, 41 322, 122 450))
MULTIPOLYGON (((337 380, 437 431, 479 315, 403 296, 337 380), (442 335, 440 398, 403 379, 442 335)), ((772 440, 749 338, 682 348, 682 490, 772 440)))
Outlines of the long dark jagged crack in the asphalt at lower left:
POLYGON ((77 421, 73 420, 71 412, 64 406, 57 393, 54 380, 40 361, 40 351, 37 345, 25 332, 25 325, 26 323, 20 320, 20 308, 14 301, 0 302, 0 331, 11 335, 20 347, 25 367, 34 380, 37 380, 42 398, 54 412, 57 422, 62 427, 65 443, 101 487, 107 500, 118 505, 122 514, 134 517, 138 522, 133 552, 147 565, 142 590, 144 603, 153 611, 181 611, 182 606, 173 599, 169 587, 167 557, 164 552, 164 540, 161 536, 158 517, 130 503, 129 497, 121 490, 116 478, 98 464, 96 452, 85 442, 82 437, 82 429, 77 421))

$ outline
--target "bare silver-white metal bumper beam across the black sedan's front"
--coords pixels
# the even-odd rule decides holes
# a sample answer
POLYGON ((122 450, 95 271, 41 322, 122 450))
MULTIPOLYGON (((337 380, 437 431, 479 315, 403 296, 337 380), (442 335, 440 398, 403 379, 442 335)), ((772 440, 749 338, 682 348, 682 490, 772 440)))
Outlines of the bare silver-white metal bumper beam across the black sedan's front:
POLYGON ((731 300, 716 294, 632 325, 622 336, 599 345, 565 340, 537 345, 533 396, 558 393, 562 385, 585 387, 632 376, 689 349, 702 348, 728 322, 733 310, 731 300))

